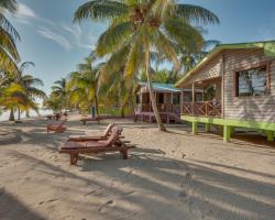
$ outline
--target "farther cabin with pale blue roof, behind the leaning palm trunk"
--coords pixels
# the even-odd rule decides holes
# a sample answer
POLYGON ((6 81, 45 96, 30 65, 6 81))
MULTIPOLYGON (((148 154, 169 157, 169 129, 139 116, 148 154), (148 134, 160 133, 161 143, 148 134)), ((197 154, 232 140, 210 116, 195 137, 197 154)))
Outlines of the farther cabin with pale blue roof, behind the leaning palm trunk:
MULTIPOLYGON (((153 82, 156 105, 163 122, 180 122, 180 106, 191 101, 191 89, 178 89, 173 84, 153 82)), ((196 91, 197 100, 202 100, 202 90, 196 91)), ((155 117, 151 105, 146 82, 140 82, 136 92, 135 119, 154 122, 155 117)))

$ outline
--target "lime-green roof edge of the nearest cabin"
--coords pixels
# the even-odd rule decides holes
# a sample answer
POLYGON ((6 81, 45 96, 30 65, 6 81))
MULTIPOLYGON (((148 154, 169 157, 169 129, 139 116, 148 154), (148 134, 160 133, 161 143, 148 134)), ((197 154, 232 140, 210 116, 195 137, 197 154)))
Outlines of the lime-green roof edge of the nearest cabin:
POLYGON ((266 42, 250 42, 250 43, 238 43, 238 44, 220 44, 215 47, 208 55, 202 58, 191 70, 189 70, 185 76, 179 79, 175 87, 183 85, 187 78, 189 78, 197 69, 209 63, 217 54, 224 50, 240 50, 240 48, 263 48, 265 56, 275 56, 275 41, 266 42))

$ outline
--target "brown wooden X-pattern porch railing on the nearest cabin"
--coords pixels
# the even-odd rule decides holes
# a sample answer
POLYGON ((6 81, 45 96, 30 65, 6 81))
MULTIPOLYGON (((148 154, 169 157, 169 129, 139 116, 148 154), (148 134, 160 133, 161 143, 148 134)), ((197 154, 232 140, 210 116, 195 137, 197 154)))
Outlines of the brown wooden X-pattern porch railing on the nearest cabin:
POLYGON ((221 102, 204 101, 184 103, 182 112, 187 116, 221 117, 221 102))

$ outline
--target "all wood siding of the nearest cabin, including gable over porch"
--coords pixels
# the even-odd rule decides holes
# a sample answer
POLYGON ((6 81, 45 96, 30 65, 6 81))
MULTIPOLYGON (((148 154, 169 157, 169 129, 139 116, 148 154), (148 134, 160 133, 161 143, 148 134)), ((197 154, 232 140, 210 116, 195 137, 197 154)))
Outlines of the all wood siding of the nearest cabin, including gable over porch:
POLYGON ((185 81, 185 85, 188 86, 193 82, 222 76, 222 57, 224 58, 224 94, 222 96, 223 88, 220 88, 222 84, 218 85, 221 97, 217 96, 217 98, 223 100, 224 118, 275 122, 275 58, 266 57, 264 50, 223 51, 197 69, 185 81), (255 97, 237 97, 235 72, 242 68, 253 68, 265 62, 271 62, 271 94, 255 97))

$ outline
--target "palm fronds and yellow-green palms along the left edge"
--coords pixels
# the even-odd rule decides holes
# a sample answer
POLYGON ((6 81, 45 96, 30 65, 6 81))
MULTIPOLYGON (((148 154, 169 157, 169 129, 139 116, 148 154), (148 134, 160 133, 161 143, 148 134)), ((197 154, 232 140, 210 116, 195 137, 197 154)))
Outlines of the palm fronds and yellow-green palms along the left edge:
POLYGON ((38 111, 36 99, 45 98, 45 92, 37 88, 43 81, 25 74, 31 62, 19 65, 20 56, 16 42, 20 35, 6 16, 6 12, 15 13, 18 3, 15 0, 0 1, 0 112, 10 111, 10 120, 14 121, 14 111, 18 111, 18 120, 23 111, 29 116, 31 109, 38 111))

